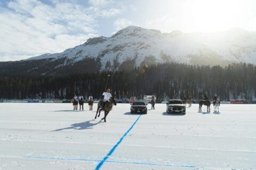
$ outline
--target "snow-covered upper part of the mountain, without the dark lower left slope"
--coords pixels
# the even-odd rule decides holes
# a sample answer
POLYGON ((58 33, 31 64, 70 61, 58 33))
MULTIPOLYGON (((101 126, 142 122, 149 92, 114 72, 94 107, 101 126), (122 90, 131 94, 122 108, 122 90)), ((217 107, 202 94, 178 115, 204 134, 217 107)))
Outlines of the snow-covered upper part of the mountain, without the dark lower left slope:
POLYGON ((137 66, 142 62, 256 64, 256 32, 233 29, 214 33, 161 33, 158 30, 129 26, 111 37, 90 38, 86 43, 62 53, 44 54, 28 60, 57 60, 63 57, 68 63, 88 57, 100 58, 102 69, 117 69, 126 61, 134 61, 137 66))

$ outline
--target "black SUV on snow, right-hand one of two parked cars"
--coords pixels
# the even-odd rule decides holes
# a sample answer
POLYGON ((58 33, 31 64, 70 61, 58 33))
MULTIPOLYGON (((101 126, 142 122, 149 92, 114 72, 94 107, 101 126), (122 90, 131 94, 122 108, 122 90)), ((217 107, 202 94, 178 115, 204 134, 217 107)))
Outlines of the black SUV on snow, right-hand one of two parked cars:
POLYGON ((183 104, 182 100, 169 100, 166 103, 167 113, 182 113, 186 114, 186 106, 183 104))

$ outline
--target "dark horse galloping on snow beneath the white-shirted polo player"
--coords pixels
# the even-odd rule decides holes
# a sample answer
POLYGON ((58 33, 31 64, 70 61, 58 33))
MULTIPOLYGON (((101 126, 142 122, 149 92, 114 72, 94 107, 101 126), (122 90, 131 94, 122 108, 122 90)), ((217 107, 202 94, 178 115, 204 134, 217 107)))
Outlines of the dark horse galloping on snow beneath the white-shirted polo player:
POLYGON ((99 103, 98 103, 98 108, 97 108, 97 112, 96 112, 96 115, 95 115, 95 119, 97 118, 97 114, 99 112, 99 115, 98 117, 100 117, 100 112, 103 110, 105 115, 103 118, 101 118, 101 120, 104 120, 104 122, 106 122, 106 117, 108 115, 108 113, 111 111, 112 107, 113 107, 113 104, 116 106, 116 100, 114 99, 114 97, 111 97, 109 99, 109 101, 106 101, 106 104, 105 106, 102 108, 103 106, 103 100, 100 100, 99 103))

